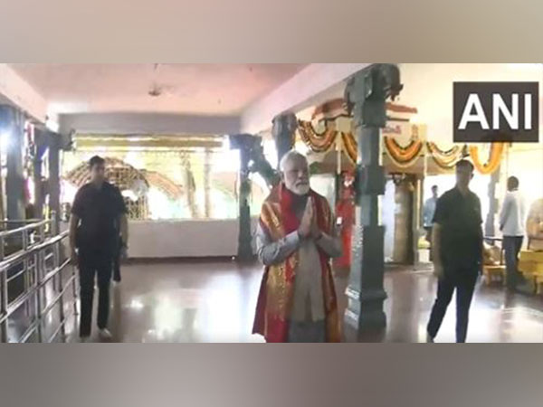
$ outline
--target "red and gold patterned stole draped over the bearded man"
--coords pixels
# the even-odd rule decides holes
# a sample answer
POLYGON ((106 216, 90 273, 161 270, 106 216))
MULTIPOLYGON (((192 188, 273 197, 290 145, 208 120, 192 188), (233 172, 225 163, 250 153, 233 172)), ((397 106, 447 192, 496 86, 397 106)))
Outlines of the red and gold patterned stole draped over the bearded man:
MULTIPOLYGON (((289 222, 287 218, 291 217, 291 214, 283 213, 285 211, 284 203, 281 205, 281 197, 284 199, 283 188, 282 184, 273 188, 262 204, 260 222, 272 241, 278 241, 288 234, 285 223, 289 222)), ((310 195, 315 203, 320 230, 331 234, 333 218, 326 198, 312 190, 310 195)), ((340 342, 338 301, 330 261, 320 249, 319 255, 327 342, 340 342)), ((294 251, 286 260, 264 269, 252 333, 264 336, 266 342, 287 342, 298 261, 298 251, 294 251)))

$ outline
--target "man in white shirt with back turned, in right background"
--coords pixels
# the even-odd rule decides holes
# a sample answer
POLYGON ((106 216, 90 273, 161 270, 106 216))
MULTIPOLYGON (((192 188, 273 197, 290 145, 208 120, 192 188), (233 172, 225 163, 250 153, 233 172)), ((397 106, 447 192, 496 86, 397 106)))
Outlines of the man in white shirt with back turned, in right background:
POLYGON ((519 179, 510 176, 507 180, 508 192, 505 195, 500 212, 500 231, 503 233, 507 287, 515 289, 519 282, 517 262, 524 239, 524 201, 519 194, 519 179))

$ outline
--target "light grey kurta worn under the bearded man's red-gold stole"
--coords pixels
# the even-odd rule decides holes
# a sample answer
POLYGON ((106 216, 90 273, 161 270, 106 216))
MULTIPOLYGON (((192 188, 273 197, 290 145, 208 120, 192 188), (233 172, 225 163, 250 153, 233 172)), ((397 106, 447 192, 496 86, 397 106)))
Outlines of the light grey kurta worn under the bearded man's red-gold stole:
MULTIPOLYGON (((300 219, 303 210, 296 212, 300 219)), ((299 265, 294 280, 292 321, 315 322, 325 318, 322 270, 317 246, 329 257, 340 256, 341 240, 338 238, 338 231, 334 230, 333 236, 323 232, 319 241, 300 239, 298 232, 291 232, 280 241, 271 241, 262 226, 258 225, 256 234, 257 254, 264 265, 280 263, 293 251, 299 251, 299 265)))

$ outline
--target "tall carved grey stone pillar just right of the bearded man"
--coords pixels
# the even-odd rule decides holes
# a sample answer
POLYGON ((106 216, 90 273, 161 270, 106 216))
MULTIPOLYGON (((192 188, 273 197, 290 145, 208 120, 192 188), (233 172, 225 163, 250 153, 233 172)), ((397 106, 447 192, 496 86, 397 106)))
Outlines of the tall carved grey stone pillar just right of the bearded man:
POLYGON ((386 327, 383 302, 384 227, 379 222, 379 195, 385 193, 385 169, 381 166, 380 128, 386 125, 386 99, 402 89, 399 70, 392 64, 374 64, 357 72, 346 88, 358 142, 356 225, 345 311, 347 340, 380 339, 386 327))

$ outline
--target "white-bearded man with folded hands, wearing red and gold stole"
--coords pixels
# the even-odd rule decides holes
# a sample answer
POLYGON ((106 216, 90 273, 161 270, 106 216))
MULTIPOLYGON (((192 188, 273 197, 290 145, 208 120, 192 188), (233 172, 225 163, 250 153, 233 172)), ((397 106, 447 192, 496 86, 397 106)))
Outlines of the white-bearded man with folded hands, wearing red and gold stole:
POLYGON ((341 240, 326 198, 310 189, 308 161, 281 159, 281 185, 262 204, 257 251, 265 266, 252 332, 267 342, 338 342, 330 258, 341 240))

